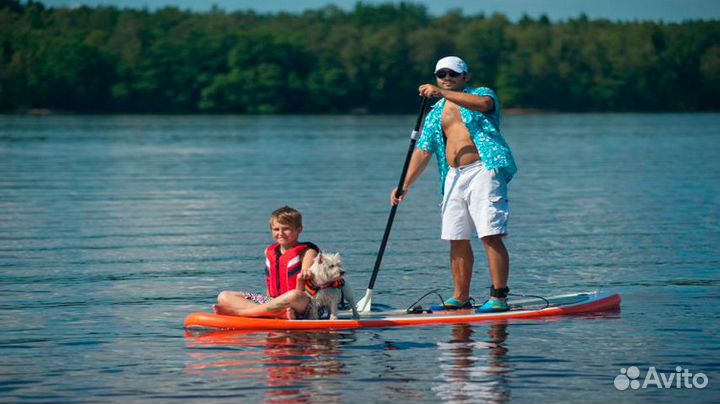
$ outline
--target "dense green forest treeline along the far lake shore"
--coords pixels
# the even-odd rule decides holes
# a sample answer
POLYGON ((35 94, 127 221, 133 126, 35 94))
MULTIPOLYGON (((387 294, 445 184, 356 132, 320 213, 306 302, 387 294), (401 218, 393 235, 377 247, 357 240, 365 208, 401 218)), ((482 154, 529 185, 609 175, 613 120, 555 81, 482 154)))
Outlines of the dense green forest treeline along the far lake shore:
POLYGON ((413 4, 301 14, 48 8, 0 0, 0 109, 414 112, 458 55, 505 107, 720 109, 720 21, 511 22, 413 4))

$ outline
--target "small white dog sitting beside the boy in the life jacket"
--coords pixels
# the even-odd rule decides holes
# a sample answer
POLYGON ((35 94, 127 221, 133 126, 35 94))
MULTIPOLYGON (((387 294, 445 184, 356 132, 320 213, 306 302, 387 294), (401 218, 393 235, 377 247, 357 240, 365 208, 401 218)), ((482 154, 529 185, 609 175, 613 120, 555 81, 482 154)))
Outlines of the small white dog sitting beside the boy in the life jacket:
POLYGON ((343 278, 345 270, 340 254, 318 254, 310 271, 313 274, 312 282, 305 285, 305 290, 310 295, 308 319, 317 320, 320 307, 325 307, 330 312, 330 320, 337 320, 342 296, 352 307, 353 318, 359 318, 352 290, 343 278))

